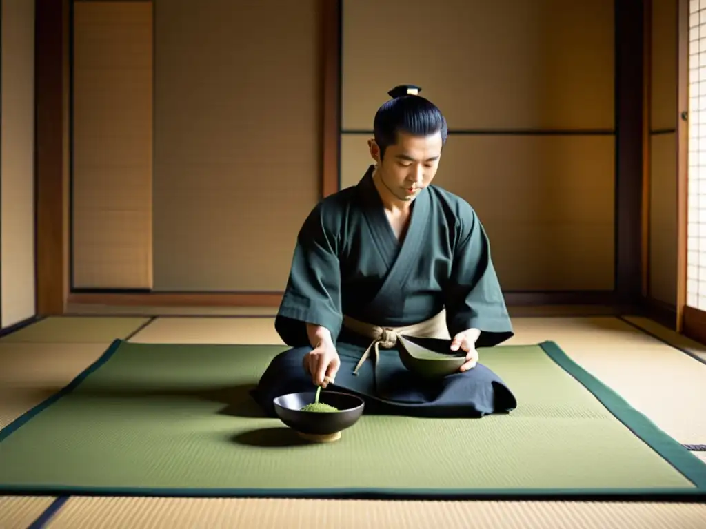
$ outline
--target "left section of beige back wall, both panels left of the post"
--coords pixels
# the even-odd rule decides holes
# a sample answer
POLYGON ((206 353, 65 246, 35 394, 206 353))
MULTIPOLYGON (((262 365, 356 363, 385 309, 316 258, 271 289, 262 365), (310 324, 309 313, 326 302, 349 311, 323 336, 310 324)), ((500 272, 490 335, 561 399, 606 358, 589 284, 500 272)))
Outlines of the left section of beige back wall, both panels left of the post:
POLYGON ((76 4, 74 286, 282 291, 321 181, 317 6, 76 4))

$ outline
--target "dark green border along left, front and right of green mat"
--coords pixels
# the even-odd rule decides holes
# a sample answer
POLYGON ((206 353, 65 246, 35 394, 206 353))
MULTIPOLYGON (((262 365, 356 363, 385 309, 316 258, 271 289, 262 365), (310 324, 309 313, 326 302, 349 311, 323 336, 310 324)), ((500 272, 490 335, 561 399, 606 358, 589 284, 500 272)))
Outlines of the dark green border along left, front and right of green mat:
MULTIPOLYGON (((0 442, 76 389, 89 375, 114 355, 122 339, 116 339, 90 367, 66 387, 0 430, 0 442)), ((236 489, 236 488, 140 488, 140 487, 66 487, 63 485, 0 485, 2 494, 143 496, 143 497, 273 497, 330 499, 492 499, 492 500, 572 500, 572 501, 706 501, 706 464, 681 444, 659 430, 649 419, 632 408, 621 396, 571 360, 553 341, 539 343, 549 358, 590 391, 618 420, 638 438, 693 482, 693 488, 647 489, 236 489)))

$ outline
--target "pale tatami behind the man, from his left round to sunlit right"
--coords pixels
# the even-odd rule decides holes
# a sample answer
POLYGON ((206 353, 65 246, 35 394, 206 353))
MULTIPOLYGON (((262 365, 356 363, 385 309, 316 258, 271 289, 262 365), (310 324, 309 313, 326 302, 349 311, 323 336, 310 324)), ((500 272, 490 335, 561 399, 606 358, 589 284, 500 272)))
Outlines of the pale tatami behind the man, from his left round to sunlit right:
MULTIPOLYGON (((513 324, 506 343, 556 341, 679 442, 706 444, 706 365, 616 317, 527 317, 513 324)), ((282 343, 267 317, 160 317, 131 341, 282 343)))

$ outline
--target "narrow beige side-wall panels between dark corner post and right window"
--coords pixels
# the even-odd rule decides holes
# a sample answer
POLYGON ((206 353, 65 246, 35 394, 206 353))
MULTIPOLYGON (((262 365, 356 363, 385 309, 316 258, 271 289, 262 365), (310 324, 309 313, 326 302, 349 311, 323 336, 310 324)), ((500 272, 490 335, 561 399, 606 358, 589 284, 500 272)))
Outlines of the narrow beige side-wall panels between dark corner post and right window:
POLYGON ((650 297, 676 305, 678 2, 652 0, 650 297), (654 133, 657 131, 657 133, 654 133))

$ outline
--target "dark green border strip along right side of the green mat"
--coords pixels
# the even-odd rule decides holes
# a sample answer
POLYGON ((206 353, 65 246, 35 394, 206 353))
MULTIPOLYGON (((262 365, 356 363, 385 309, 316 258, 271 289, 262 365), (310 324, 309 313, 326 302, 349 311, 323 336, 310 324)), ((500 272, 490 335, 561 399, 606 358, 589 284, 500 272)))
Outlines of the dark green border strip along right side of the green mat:
POLYGON ((575 363, 554 341, 544 341, 539 346, 549 355, 549 358, 590 391, 630 432, 642 439, 642 442, 690 480, 697 490, 706 493, 706 463, 691 454, 646 415, 633 408, 616 391, 575 363))

